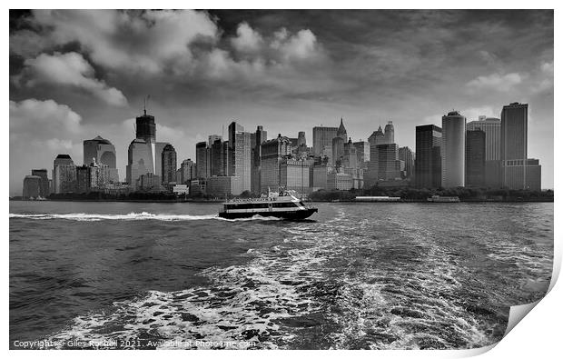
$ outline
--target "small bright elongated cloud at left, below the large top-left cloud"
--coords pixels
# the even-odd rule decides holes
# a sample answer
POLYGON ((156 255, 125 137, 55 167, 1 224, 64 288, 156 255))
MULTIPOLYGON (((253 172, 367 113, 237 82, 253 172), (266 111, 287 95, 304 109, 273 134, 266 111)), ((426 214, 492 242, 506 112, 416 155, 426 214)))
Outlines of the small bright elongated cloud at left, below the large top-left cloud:
POLYGON ((94 78, 94 68, 77 53, 54 55, 41 54, 25 60, 26 85, 69 85, 95 95, 109 105, 127 105, 123 93, 104 81, 94 78))

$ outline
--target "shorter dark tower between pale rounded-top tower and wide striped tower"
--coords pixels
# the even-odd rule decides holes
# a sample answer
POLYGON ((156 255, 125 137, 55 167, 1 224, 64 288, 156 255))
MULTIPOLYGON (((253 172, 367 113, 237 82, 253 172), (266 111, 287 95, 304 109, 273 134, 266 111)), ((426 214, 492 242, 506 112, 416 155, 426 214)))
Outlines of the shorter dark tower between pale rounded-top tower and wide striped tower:
POLYGON ((485 185, 486 134, 483 130, 469 130, 465 140, 465 185, 485 185))

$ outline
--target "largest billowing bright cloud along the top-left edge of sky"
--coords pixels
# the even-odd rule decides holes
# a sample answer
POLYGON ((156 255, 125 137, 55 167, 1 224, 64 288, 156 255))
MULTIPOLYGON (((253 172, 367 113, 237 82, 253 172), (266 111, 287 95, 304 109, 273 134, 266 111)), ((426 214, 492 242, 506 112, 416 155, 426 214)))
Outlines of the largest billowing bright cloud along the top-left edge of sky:
POLYGON ((192 10, 36 10, 34 24, 56 45, 80 44, 97 65, 144 74, 184 73, 190 45, 217 36, 209 15, 192 10))

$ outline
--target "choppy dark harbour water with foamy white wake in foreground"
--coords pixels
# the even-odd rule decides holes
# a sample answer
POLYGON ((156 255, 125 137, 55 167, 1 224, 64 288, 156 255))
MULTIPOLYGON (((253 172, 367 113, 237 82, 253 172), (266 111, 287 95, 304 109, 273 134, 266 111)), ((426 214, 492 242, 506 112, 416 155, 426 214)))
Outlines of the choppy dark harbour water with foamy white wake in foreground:
POLYGON ((10 203, 15 340, 471 348, 540 299, 553 204, 319 204, 308 222, 217 204, 10 203))

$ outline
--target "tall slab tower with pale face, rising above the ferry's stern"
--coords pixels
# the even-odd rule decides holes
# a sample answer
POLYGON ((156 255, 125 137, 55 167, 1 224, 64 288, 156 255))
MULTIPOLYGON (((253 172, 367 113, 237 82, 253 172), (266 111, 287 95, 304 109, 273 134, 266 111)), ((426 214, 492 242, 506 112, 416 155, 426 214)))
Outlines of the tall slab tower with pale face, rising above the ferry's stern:
POLYGON ((251 190, 251 134, 244 127, 232 122, 229 125, 229 147, 232 151, 232 165, 227 175, 241 177, 242 192, 251 190))

